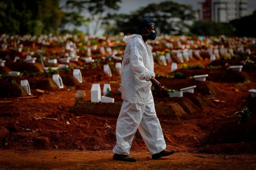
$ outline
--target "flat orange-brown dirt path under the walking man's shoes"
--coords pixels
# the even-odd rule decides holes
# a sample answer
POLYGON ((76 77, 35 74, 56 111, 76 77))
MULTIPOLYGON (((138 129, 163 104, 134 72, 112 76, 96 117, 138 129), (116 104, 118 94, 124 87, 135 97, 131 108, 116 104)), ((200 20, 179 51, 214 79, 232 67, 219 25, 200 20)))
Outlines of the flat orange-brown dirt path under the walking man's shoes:
POLYGON ((149 152, 131 152, 138 160, 112 159, 112 151, 0 150, 0 169, 256 169, 255 154, 216 155, 178 152, 152 160, 149 152))

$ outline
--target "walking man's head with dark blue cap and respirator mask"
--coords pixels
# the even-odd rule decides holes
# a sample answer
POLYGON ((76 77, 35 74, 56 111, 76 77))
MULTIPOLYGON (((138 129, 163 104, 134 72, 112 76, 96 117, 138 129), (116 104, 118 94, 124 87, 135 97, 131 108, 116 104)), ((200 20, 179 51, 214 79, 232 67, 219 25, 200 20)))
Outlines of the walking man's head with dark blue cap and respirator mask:
POLYGON ((135 34, 141 35, 144 39, 155 40, 155 23, 153 23, 153 18, 143 18, 140 20, 138 25, 138 30, 135 34))

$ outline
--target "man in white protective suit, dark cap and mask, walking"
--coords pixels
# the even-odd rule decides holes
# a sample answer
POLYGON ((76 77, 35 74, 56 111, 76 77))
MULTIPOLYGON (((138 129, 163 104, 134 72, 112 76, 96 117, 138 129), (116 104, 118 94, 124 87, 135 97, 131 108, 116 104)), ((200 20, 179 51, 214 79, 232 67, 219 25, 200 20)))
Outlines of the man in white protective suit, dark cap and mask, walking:
POLYGON ((152 18, 144 18, 139 22, 135 34, 125 36, 128 42, 122 61, 121 87, 123 104, 116 123, 116 145, 113 159, 135 162, 130 156, 130 148, 137 129, 145 141, 152 159, 168 156, 175 149, 165 150, 166 144, 156 116, 154 99, 151 92, 161 89, 161 84, 155 79, 154 61, 147 40, 155 40, 155 24, 152 18))

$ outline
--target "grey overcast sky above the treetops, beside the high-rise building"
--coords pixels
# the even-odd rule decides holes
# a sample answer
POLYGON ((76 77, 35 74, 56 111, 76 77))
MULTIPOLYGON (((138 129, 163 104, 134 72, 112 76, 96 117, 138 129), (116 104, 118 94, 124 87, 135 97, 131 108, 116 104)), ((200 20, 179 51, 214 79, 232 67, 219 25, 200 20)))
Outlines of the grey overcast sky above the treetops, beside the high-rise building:
MULTIPOLYGON (((146 7, 151 3, 159 3, 165 2, 168 0, 122 0, 120 3, 120 9, 118 13, 129 14, 131 11, 136 11, 140 7, 146 7)), ((179 4, 191 5, 194 10, 198 9, 198 2, 204 2, 205 0, 172 0, 173 2, 177 2, 179 4)), ((248 13, 252 14, 252 12, 256 9, 256 0, 247 0, 248 5, 248 13)))

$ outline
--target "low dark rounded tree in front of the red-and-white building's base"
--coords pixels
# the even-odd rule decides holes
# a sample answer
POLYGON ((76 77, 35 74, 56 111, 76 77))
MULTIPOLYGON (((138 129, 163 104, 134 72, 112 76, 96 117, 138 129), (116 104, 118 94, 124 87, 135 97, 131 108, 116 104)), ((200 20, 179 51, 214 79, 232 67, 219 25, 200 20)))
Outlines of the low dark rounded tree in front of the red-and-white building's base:
POLYGON ((201 36, 233 36, 235 33, 235 28, 228 23, 219 23, 210 20, 199 20, 194 22, 190 28, 190 31, 192 34, 201 36))

